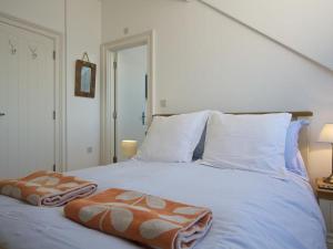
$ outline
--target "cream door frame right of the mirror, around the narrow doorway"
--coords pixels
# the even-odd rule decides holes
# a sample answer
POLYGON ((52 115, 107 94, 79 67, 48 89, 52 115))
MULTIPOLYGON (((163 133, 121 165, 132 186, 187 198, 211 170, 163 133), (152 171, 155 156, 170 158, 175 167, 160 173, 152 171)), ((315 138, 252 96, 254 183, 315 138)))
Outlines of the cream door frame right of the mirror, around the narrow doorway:
POLYGON ((114 93, 114 52, 123 49, 147 45, 147 69, 148 69, 148 100, 147 100, 147 124, 151 124, 154 114, 154 31, 118 39, 101 44, 101 165, 111 164, 114 145, 113 129, 113 97, 114 93))

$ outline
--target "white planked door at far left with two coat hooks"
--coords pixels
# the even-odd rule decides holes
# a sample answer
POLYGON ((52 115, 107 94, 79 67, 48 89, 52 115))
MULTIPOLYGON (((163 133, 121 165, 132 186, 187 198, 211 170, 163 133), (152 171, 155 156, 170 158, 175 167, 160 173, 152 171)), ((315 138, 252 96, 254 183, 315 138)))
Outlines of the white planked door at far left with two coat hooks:
POLYGON ((0 178, 53 168, 53 46, 0 23, 0 178))

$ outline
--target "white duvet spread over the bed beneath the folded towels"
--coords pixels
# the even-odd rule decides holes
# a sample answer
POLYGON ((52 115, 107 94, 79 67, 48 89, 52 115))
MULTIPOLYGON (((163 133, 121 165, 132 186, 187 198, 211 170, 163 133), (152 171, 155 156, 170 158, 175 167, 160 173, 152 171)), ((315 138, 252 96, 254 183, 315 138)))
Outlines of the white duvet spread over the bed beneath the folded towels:
MULTIPOLYGON (((195 163, 127 162, 71 172, 99 190, 118 187, 205 206, 213 226, 198 249, 323 249, 325 227, 310 185, 296 176, 221 169, 195 163)), ((65 219, 62 208, 0 196, 1 249, 135 249, 130 241, 65 219)))

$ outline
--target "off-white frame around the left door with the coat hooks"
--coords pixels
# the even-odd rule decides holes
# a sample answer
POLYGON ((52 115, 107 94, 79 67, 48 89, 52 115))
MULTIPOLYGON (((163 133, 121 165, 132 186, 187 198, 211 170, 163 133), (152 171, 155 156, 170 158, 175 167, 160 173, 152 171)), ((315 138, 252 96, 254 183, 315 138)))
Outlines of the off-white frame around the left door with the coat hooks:
MULTIPOLYGON (((64 68, 64 38, 62 33, 42 25, 16 18, 0 11, 0 23, 16 27, 53 41, 54 50, 54 165, 57 172, 67 170, 67 110, 65 110, 65 68, 64 68)), ((50 54, 52 56, 52 54, 50 54)), ((52 113, 50 113, 52 117, 52 113)))

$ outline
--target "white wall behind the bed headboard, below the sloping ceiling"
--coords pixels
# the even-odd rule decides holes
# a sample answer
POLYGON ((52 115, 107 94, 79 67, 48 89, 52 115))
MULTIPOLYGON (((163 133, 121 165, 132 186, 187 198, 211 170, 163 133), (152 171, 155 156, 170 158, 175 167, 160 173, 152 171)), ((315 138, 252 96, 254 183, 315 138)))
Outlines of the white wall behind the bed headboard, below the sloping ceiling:
POLYGON ((157 112, 313 111, 310 173, 329 175, 330 147, 315 141, 333 122, 331 71, 196 1, 102 0, 102 42, 124 37, 124 28, 155 30, 157 112))

